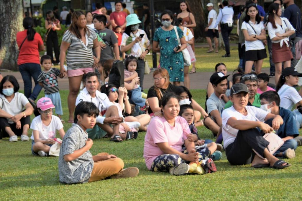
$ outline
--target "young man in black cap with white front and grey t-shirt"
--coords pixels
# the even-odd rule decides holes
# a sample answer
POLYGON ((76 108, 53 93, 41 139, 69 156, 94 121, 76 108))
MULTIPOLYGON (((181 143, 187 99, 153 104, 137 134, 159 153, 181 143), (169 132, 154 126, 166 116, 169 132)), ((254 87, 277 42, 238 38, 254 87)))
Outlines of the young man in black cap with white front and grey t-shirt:
MULTIPOLYGON (((214 136, 217 135, 219 128, 221 127, 221 114, 228 101, 228 98, 225 95, 227 90, 226 78, 228 76, 229 75, 224 75, 222 72, 216 72, 210 77, 210 83, 214 88, 214 93, 207 100, 207 111, 217 124, 217 127, 209 127, 214 136)), ((206 121, 206 119, 204 120, 206 121)))

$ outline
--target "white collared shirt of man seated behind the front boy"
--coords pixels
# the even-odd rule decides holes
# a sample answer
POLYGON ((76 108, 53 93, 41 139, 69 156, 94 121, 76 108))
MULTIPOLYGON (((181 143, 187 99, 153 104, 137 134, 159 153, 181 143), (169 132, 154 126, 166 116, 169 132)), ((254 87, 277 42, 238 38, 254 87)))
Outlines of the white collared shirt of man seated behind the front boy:
MULTIPOLYGON (((93 102, 98 107, 101 114, 104 115, 106 110, 113 104, 109 101, 106 94, 101 93, 98 90, 95 93, 95 98, 92 98, 85 87, 82 91, 80 91, 78 97, 76 98, 76 106, 82 101, 93 102)), ((99 116, 98 119, 100 119, 98 123, 103 124, 105 117, 99 116)))

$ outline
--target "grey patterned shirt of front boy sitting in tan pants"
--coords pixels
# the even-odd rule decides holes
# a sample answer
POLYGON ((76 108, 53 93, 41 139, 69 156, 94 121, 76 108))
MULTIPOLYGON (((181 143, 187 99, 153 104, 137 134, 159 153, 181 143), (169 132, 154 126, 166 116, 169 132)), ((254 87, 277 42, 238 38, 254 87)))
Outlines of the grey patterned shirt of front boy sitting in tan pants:
POLYGON ((64 138, 59 155, 59 180, 62 183, 85 183, 90 179, 94 161, 90 151, 79 158, 66 162, 64 156, 85 146, 88 134, 78 124, 72 124, 64 138))

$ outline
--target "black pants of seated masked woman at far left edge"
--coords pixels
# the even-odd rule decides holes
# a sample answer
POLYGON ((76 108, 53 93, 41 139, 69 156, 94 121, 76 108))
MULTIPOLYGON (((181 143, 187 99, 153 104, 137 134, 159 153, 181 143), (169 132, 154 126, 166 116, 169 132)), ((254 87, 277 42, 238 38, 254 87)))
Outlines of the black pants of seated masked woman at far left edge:
POLYGON ((17 129, 16 128, 16 124, 9 124, 8 120, 4 117, 0 117, 0 128, 2 130, 2 133, 0 133, 0 139, 2 139, 2 137, 9 137, 8 133, 6 133, 5 131, 5 127, 11 127, 11 130, 15 133, 15 135, 20 136, 22 135, 23 132, 23 126, 25 124, 30 125, 31 123, 31 117, 30 116, 26 116, 25 118, 21 118, 20 119, 21 122, 21 128, 17 129))

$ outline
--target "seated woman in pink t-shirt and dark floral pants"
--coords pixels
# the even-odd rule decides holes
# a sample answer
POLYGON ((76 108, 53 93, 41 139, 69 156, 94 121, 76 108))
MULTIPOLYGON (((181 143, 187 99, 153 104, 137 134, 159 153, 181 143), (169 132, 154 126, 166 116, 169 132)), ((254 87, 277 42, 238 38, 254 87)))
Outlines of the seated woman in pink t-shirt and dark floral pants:
POLYGON ((144 144, 144 158, 148 170, 172 175, 188 173, 189 162, 198 163, 210 155, 207 147, 195 150, 188 140, 191 133, 187 121, 178 116, 179 98, 171 92, 162 97, 162 117, 152 118, 144 144), (185 144, 186 150, 182 145, 185 144))

